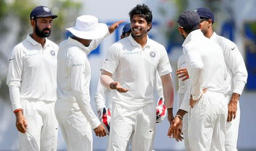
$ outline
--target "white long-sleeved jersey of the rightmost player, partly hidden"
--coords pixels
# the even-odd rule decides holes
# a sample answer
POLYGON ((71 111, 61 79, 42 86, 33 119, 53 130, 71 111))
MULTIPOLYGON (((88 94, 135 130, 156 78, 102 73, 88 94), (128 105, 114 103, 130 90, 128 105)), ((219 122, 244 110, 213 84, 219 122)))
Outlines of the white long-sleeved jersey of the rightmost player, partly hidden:
POLYGON ((221 46, 224 54, 228 76, 225 80, 225 94, 238 93, 242 94, 243 88, 247 81, 247 70, 245 62, 237 45, 225 37, 218 36, 215 32, 210 37, 221 46))

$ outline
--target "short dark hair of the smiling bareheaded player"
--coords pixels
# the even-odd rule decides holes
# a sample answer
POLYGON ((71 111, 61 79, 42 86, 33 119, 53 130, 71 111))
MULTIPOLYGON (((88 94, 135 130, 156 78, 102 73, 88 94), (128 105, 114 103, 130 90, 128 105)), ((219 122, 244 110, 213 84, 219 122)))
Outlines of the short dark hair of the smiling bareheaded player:
POLYGON ((130 12, 130 20, 133 18, 134 15, 139 15, 141 18, 145 19, 147 21, 147 24, 152 23, 152 11, 150 8, 148 8, 147 5, 137 5, 134 7, 130 12))

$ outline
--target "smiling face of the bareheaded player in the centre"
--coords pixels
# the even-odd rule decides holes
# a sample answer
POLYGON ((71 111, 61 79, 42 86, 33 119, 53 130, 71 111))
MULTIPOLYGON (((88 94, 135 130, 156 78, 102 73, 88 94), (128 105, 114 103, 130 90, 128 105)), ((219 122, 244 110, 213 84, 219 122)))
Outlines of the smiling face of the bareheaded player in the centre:
POLYGON ((134 38, 142 38, 147 36, 148 30, 151 28, 151 23, 148 24, 147 21, 139 15, 134 15, 131 18, 131 34, 134 38))

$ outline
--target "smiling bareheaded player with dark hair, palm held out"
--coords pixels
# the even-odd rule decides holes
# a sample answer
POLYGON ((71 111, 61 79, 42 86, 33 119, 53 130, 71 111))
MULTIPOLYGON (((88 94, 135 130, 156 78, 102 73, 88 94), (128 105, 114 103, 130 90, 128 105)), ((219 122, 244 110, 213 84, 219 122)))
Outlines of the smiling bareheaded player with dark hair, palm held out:
POLYGON ((172 69, 164 46, 147 36, 152 27, 150 8, 137 5, 129 16, 130 36, 110 46, 102 65, 101 84, 115 89, 107 150, 126 150, 130 137, 132 150, 152 150, 156 127, 155 76, 158 71, 171 122, 172 69))

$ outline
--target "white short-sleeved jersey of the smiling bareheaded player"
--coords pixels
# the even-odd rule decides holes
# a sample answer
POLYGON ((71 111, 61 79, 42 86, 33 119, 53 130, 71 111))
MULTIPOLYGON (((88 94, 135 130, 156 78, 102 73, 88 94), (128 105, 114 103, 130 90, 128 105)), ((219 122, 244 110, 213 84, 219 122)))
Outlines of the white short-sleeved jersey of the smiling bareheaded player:
POLYGON ((142 48, 131 34, 110 46, 102 69, 115 73, 122 87, 129 89, 126 93, 115 90, 112 101, 130 109, 141 109, 154 102, 156 71, 160 76, 172 71, 163 45, 147 37, 142 48))

